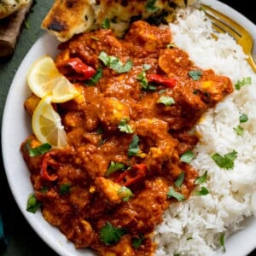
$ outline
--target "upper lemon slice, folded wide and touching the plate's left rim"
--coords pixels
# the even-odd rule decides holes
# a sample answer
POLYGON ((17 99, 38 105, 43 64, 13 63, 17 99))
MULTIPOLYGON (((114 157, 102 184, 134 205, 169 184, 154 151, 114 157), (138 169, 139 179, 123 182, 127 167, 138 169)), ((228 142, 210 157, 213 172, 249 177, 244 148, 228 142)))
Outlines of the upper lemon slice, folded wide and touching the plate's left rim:
POLYGON ((32 64, 27 73, 27 83, 32 92, 43 98, 51 94, 52 102, 61 103, 79 95, 75 86, 55 67, 49 55, 44 55, 32 64))

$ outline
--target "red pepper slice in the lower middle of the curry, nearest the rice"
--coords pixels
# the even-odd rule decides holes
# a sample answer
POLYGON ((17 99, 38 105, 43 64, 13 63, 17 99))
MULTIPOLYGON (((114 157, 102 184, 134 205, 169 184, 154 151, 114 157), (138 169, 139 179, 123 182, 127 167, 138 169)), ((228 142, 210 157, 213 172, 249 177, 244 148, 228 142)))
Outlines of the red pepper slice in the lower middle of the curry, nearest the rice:
POLYGON ((137 164, 131 166, 131 169, 122 172, 116 179, 116 183, 121 183, 125 187, 129 187, 133 183, 137 183, 146 176, 147 166, 145 164, 137 164))

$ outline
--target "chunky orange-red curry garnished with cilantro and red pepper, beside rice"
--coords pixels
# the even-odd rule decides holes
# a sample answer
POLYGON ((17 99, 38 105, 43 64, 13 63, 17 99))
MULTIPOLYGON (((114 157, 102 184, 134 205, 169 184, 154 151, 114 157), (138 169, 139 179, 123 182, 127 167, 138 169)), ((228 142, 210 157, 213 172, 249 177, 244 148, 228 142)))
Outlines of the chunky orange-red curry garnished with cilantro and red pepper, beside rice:
POLYGON ((32 135, 21 150, 44 218, 77 248, 154 255, 154 227, 178 203, 168 191, 187 199, 195 188, 198 174, 180 157, 198 142, 191 130, 201 114, 233 87, 230 79, 195 67, 170 42, 168 27, 139 20, 123 39, 102 29, 60 45, 55 65, 81 93, 54 104, 68 145, 31 157, 26 143, 39 144, 32 135), (121 67, 130 61, 131 69, 114 70, 111 60, 121 67), (96 71, 102 73, 92 83, 96 71), (68 193, 61 193, 63 185, 68 193))

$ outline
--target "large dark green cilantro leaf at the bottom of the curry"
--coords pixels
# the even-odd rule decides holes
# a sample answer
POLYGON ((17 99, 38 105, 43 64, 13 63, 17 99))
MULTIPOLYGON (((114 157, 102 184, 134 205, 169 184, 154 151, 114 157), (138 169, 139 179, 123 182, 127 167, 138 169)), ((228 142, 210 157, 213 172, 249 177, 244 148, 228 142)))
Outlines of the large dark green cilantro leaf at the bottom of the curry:
POLYGON ((126 233, 125 229, 116 228, 109 222, 105 224, 100 230, 100 239, 107 246, 111 246, 117 242, 119 242, 120 238, 124 236, 126 233))

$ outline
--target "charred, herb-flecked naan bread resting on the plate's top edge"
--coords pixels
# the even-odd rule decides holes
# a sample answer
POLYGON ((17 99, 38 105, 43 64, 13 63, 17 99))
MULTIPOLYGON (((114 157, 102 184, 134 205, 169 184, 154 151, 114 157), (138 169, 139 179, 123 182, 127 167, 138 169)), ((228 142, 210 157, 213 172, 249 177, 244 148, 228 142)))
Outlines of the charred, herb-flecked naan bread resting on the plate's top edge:
MULTIPOLYGON (((132 20, 170 22, 177 7, 196 0, 55 0, 42 22, 42 28, 64 42, 74 34, 90 31, 108 20, 110 28, 122 37, 132 20)), ((152 23, 151 22, 151 23, 152 23)))

